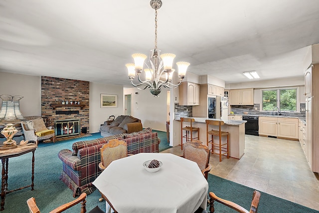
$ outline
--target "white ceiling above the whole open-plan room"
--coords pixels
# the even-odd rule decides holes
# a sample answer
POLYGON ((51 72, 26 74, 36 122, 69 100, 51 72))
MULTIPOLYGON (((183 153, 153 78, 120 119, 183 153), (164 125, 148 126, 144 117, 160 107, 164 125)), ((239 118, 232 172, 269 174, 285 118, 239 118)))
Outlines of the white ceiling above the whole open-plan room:
MULTIPOLYGON (((158 47, 226 83, 303 75, 319 0, 162 0, 158 47)), ((130 86, 126 63, 154 48, 150 0, 1 0, 0 71, 130 86)))

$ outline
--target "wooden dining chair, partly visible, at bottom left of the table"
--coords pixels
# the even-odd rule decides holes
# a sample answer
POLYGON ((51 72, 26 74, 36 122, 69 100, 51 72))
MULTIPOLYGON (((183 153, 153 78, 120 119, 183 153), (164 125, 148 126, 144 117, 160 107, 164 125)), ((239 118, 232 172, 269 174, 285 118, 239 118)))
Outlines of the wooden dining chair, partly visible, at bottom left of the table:
MULTIPOLYGON (((80 213, 86 213, 86 193, 82 193, 77 199, 74 201, 71 201, 67 204, 63 204, 62 206, 59 206, 58 208, 52 210, 50 213, 61 213, 66 211, 67 209, 70 209, 71 207, 81 203, 81 211, 80 213)), ((30 213, 40 213, 39 208, 36 206, 35 199, 29 198, 26 201, 28 205, 28 209, 30 213)), ((74 208, 73 208, 74 209, 74 208)), ((72 212, 76 212, 72 210, 72 212)), ((93 210, 91 210, 89 213, 104 213, 98 206, 96 206, 93 210)))

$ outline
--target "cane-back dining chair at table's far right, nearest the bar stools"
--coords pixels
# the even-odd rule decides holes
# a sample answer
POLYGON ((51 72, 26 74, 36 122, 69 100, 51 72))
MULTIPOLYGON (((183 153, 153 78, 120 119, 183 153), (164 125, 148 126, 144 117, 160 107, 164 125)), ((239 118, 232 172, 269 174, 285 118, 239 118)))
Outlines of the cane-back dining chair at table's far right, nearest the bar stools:
POLYGON ((208 178, 208 172, 211 170, 209 164, 209 149, 201 141, 193 140, 184 144, 183 158, 197 163, 205 179, 208 178))

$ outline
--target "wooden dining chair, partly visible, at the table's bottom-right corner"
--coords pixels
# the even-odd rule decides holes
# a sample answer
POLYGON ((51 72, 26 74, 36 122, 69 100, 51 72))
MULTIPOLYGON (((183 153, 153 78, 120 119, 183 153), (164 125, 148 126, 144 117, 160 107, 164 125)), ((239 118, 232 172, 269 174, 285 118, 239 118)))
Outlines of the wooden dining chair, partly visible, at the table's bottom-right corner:
MULTIPOLYGON (((231 201, 227 201, 224 199, 221 199, 219 197, 217 197, 214 193, 210 192, 209 193, 209 203, 210 203, 210 207, 209 207, 209 213, 214 213, 215 209, 214 209, 214 201, 217 201, 218 203, 221 203, 239 213, 257 213, 258 210, 258 204, 259 204, 259 200, 260 200, 260 192, 258 191, 254 191, 253 193, 253 199, 250 205, 250 210, 246 210, 243 207, 239 206, 238 204, 235 204, 234 202, 231 201)), ((218 212, 218 211, 217 211, 218 212)))

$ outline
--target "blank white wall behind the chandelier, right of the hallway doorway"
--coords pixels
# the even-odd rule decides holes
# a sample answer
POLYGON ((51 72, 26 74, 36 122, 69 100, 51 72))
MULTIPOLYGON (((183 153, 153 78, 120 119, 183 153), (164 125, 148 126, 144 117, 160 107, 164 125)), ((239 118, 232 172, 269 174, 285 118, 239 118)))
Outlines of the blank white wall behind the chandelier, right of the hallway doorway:
POLYGON ((142 121, 143 127, 166 132, 167 90, 154 97, 149 89, 124 89, 124 95, 132 94, 132 116, 142 121), (138 94, 135 94, 138 92, 138 94))

